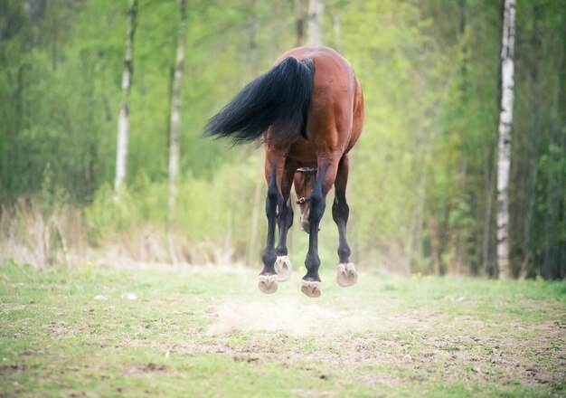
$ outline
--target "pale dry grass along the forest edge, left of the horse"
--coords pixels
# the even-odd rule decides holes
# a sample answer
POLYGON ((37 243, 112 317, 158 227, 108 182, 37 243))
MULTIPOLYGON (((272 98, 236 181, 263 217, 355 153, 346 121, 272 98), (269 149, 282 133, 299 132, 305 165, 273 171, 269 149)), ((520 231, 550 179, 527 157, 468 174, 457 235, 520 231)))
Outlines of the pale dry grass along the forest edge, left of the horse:
POLYGON ((89 240, 89 224, 83 212, 65 204, 46 212, 39 201, 20 198, 0 207, 0 261, 45 267, 120 264, 146 267, 171 264, 171 251, 181 264, 231 263, 230 242, 192 242, 175 232, 167 233, 145 223, 124 232, 108 232, 102 242, 89 240), (171 242, 171 244, 169 243, 171 242))

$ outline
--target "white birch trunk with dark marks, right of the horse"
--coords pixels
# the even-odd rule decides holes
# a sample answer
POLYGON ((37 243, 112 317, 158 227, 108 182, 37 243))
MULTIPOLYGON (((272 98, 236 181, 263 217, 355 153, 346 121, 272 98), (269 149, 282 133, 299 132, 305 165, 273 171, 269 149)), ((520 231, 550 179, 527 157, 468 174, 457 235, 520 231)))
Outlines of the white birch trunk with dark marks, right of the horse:
POLYGON ((514 17, 515 0, 505 0, 501 41, 501 113, 497 154, 497 268, 499 279, 509 273, 509 175, 511 166, 511 125, 514 101, 514 17))

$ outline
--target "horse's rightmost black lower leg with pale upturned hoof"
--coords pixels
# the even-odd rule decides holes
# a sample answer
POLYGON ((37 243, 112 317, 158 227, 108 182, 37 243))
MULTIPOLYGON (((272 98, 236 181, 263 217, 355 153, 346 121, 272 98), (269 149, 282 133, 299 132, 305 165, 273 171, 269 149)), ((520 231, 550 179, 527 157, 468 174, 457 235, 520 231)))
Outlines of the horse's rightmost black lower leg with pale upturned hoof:
POLYGON ((340 263, 336 268, 336 281, 340 286, 352 286, 358 280, 354 263, 350 262, 350 246, 346 239, 346 223, 350 208, 346 202, 346 185, 348 183, 348 170, 350 161, 345 155, 340 160, 335 181, 335 202, 332 205, 332 218, 338 226, 338 257, 340 263))

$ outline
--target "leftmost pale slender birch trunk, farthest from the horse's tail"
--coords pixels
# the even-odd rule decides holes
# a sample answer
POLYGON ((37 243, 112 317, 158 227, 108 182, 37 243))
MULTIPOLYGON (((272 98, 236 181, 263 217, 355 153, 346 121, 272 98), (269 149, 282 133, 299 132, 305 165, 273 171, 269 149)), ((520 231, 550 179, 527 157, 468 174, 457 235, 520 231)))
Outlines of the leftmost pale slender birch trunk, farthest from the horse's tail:
POLYGON ((134 73, 134 34, 136 33, 137 0, 129 0, 127 7, 126 56, 122 73, 122 103, 118 114, 118 147, 116 149, 116 179, 114 191, 118 194, 126 179, 127 136, 129 134, 129 90, 134 73))

